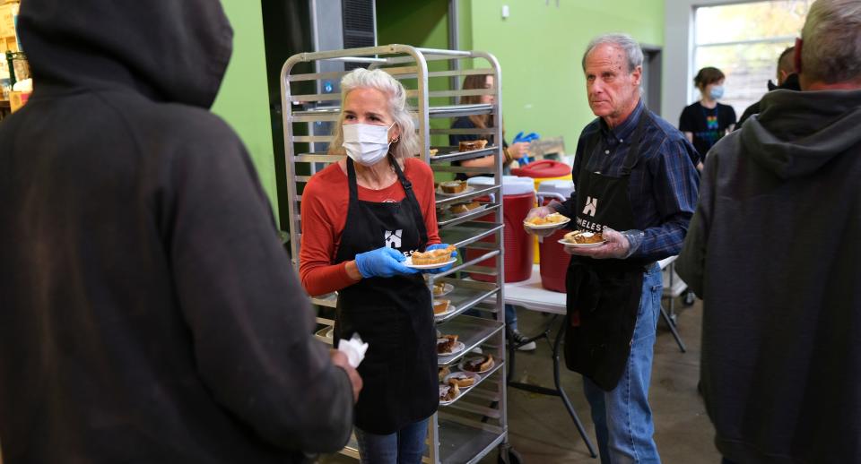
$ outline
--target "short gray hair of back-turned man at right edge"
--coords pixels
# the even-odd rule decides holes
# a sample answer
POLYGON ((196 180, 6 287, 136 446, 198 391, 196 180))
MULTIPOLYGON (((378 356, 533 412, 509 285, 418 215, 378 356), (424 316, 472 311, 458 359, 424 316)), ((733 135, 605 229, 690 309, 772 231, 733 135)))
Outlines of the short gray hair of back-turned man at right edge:
POLYGON ((861 0, 817 0, 801 38, 801 72, 810 82, 861 80, 861 0))

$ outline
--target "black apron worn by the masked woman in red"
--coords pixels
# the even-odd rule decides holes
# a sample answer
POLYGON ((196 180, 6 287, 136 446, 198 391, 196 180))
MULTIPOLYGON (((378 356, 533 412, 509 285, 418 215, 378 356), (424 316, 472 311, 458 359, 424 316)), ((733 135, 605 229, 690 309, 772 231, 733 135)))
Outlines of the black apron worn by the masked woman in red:
MULTIPOLYGON (((352 159, 347 159, 350 206, 335 262, 357 253, 391 246, 401 252, 423 250, 428 241, 413 185, 391 155, 404 186, 402 202, 361 202, 352 159)), ((364 387, 355 423, 370 434, 393 434, 404 425, 430 417, 439 406, 437 335, 431 291, 422 274, 362 279, 338 292, 334 341, 359 333, 370 345, 359 365, 364 387)))

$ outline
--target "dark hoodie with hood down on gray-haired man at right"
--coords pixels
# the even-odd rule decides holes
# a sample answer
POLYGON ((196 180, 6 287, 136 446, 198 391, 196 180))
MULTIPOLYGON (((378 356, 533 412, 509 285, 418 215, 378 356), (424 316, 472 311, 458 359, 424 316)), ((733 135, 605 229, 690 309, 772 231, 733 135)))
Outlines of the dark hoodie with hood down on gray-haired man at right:
POLYGON ((709 152, 680 276, 743 463, 861 462, 861 90, 774 90, 709 152))

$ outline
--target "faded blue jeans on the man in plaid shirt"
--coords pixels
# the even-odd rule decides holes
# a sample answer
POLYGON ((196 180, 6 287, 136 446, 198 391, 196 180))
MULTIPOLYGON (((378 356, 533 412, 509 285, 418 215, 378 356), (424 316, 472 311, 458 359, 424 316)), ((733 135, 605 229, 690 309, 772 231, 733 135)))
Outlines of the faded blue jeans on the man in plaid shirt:
POLYGON ((643 275, 643 293, 631 340, 631 356, 616 388, 604 391, 583 377, 586 398, 592 408, 601 464, 661 462, 652 438, 655 425, 652 423, 652 410, 648 407, 648 382, 652 374, 662 291, 661 270, 656 263, 643 275))

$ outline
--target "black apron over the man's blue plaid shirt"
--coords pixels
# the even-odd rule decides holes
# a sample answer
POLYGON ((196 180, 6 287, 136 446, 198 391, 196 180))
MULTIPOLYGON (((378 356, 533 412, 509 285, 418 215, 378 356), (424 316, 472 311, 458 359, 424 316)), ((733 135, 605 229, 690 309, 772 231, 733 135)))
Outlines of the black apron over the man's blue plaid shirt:
MULTIPOLYGON (((637 164, 639 142, 648 120, 651 116, 644 108, 619 177, 587 169, 592 156, 605 156, 595 153, 600 143, 583 150, 587 158, 580 165, 575 202, 578 228, 595 232, 604 227, 620 231, 637 228, 628 182, 631 169, 637 164)), ((646 264, 642 260, 571 256, 565 279, 568 312, 565 364, 604 391, 615 388, 631 355, 646 264)))

